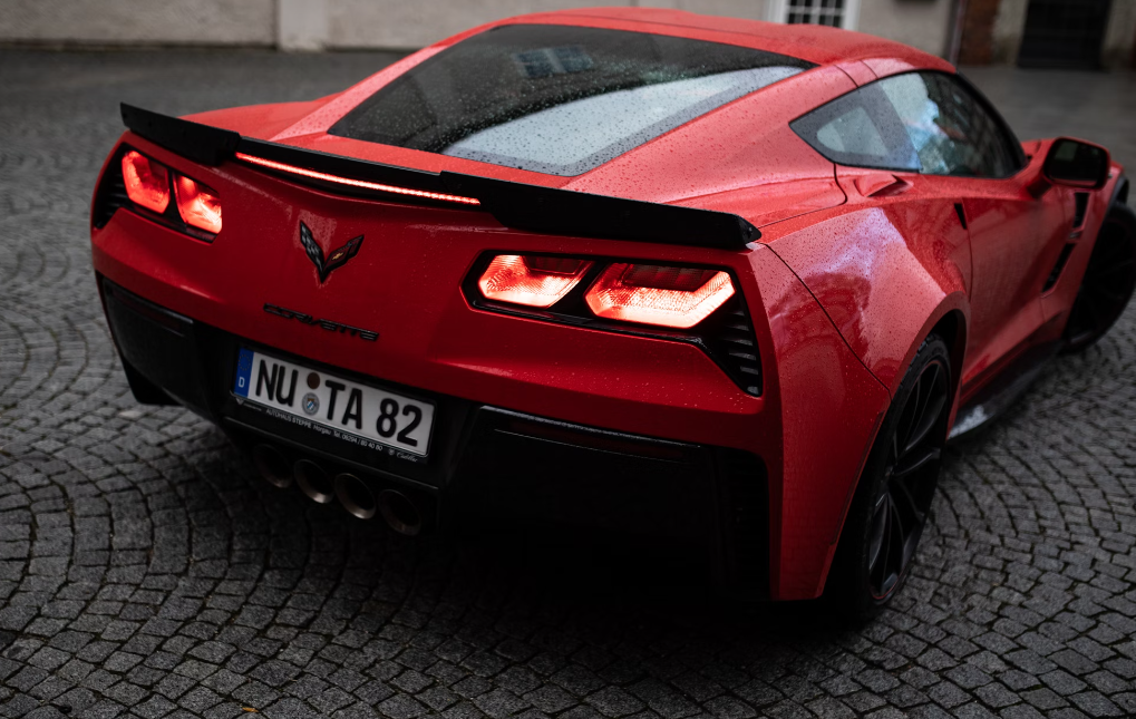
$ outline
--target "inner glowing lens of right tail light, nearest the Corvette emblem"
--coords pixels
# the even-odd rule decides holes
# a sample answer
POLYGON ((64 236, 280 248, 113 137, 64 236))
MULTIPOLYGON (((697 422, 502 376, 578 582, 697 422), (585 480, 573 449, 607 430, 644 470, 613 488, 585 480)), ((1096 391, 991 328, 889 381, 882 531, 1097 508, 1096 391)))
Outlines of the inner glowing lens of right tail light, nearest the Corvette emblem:
POLYGON ((591 266, 587 260, 562 257, 498 254, 477 286, 487 300, 552 307, 579 284, 591 266))

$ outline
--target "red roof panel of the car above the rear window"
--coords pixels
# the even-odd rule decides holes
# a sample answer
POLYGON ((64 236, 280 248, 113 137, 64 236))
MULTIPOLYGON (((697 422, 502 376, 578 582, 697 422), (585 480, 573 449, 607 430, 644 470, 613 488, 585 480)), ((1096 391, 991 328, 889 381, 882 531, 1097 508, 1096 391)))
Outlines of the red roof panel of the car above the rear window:
POLYGON ((934 55, 876 35, 822 25, 785 25, 663 8, 598 7, 519 15, 461 33, 450 39, 448 43, 483 32, 487 27, 512 23, 594 25, 615 30, 677 34, 778 52, 817 65, 880 59, 897 61, 899 66, 910 68, 954 69, 934 55))

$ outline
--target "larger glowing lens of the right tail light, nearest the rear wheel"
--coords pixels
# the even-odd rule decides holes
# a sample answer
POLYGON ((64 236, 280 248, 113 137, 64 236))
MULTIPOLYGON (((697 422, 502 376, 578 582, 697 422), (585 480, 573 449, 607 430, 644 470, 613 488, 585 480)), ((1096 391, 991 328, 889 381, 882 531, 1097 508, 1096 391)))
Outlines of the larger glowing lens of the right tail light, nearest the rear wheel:
POLYGON ((734 296, 729 273, 660 265, 610 265, 584 300, 598 317, 693 327, 734 296))

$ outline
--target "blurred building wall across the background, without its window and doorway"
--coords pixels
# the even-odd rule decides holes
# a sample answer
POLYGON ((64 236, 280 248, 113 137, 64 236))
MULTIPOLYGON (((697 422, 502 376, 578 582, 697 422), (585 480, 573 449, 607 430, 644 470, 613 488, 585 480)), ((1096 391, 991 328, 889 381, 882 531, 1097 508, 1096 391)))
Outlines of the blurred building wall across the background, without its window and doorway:
MULTIPOLYGON (((285 50, 427 45, 482 23, 607 2, 778 19, 787 0, 0 0, 0 43, 252 45, 285 50)), ((960 0, 845 0, 859 31, 950 53, 960 0)), ((1013 62, 1029 0, 966 0, 959 60, 1013 62)), ((1102 58, 1134 59, 1136 0, 1113 0, 1102 58)))

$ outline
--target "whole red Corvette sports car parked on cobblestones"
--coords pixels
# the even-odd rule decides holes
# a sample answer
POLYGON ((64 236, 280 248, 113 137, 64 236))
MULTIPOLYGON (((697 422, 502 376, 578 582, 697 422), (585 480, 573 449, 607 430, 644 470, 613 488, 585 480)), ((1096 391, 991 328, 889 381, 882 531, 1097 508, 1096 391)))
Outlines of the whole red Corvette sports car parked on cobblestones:
POLYGON ((853 616, 952 428, 1136 284, 1105 150, 829 27, 527 15, 311 102, 123 118, 91 224, 140 402, 406 534, 618 528, 853 616))

